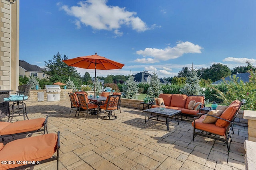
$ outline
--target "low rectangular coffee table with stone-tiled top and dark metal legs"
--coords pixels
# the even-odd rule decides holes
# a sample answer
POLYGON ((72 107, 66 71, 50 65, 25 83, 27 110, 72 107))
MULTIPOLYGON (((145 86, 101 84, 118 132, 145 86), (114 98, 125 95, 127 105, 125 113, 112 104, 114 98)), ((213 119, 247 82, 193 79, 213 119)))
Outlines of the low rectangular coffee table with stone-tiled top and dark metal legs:
POLYGON ((153 119, 153 120, 157 120, 157 121, 162 121, 162 120, 158 120, 159 116, 166 117, 166 121, 162 121, 162 122, 166 122, 166 126, 167 126, 167 130, 168 131, 169 131, 169 117, 174 117, 174 119, 176 119, 176 115, 177 115, 178 124, 179 124, 179 113, 180 113, 180 110, 175 110, 175 109, 160 110, 159 107, 154 107, 154 108, 151 108, 151 109, 143 110, 143 112, 146 112, 145 124, 147 122, 147 115, 148 115, 148 120, 149 119, 153 119, 153 117, 157 117, 156 119, 153 119), (149 117, 150 113, 154 114, 154 116, 149 117))

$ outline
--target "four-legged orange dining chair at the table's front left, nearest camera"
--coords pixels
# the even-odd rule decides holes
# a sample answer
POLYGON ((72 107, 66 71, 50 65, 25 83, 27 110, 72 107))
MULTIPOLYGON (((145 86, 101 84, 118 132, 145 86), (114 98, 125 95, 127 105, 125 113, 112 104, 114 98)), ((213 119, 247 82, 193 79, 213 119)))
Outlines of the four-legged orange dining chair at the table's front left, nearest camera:
MULTIPOLYGON (((78 97, 78 101, 79 101, 79 110, 80 109, 86 110, 86 118, 85 119, 87 119, 89 110, 98 109, 98 105, 92 104, 89 102, 87 94, 77 94, 77 97, 78 97)), ((80 111, 78 111, 78 116, 79 116, 79 113, 80 113, 80 111)), ((97 119, 98 118, 99 118, 99 109, 97 110, 97 119)))

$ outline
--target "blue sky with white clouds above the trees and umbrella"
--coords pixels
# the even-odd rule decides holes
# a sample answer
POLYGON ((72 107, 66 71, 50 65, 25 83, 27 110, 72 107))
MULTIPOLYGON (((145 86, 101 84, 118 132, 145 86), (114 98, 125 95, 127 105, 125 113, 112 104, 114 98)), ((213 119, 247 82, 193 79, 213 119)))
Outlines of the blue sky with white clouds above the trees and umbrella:
MULTIPOLYGON (((182 67, 256 65, 255 0, 20 1, 20 60, 44 67, 58 52, 125 64, 97 76, 182 67)), ((77 68, 81 76, 94 70, 77 68)))

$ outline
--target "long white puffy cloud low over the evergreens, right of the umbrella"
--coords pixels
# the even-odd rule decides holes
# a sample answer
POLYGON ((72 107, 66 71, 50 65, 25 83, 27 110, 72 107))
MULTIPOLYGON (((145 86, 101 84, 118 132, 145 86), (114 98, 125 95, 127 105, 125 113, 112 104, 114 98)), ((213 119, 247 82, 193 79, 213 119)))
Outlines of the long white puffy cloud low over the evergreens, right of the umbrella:
MULTIPOLYGON (((143 57, 150 56, 154 57, 157 61, 163 60, 167 61, 170 59, 176 59, 181 57, 185 53, 202 53, 201 50, 203 48, 199 45, 195 45, 188 41, 186 42, 178 42, 175 47, 166 47, 165 49, 154 49, 154 48, 146 48, 144 50, 136 51, 138 55, 143 55, 143 57)), ((137 59, 140 61, 139 59, 137 59)), ((143 60, 142 60, 143 61, 143 60)))

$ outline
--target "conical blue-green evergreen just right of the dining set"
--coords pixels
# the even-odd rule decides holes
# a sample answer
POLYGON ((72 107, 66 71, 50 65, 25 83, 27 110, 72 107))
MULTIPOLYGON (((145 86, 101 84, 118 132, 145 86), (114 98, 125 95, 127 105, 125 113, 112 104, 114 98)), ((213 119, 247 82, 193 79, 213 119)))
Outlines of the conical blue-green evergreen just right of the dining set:
POLYGON ((126 85, 123 88, 123 97, 126 99, 137 99, 138 87, 134 81, 134 76, 129 75, 126 80, 126 85))

